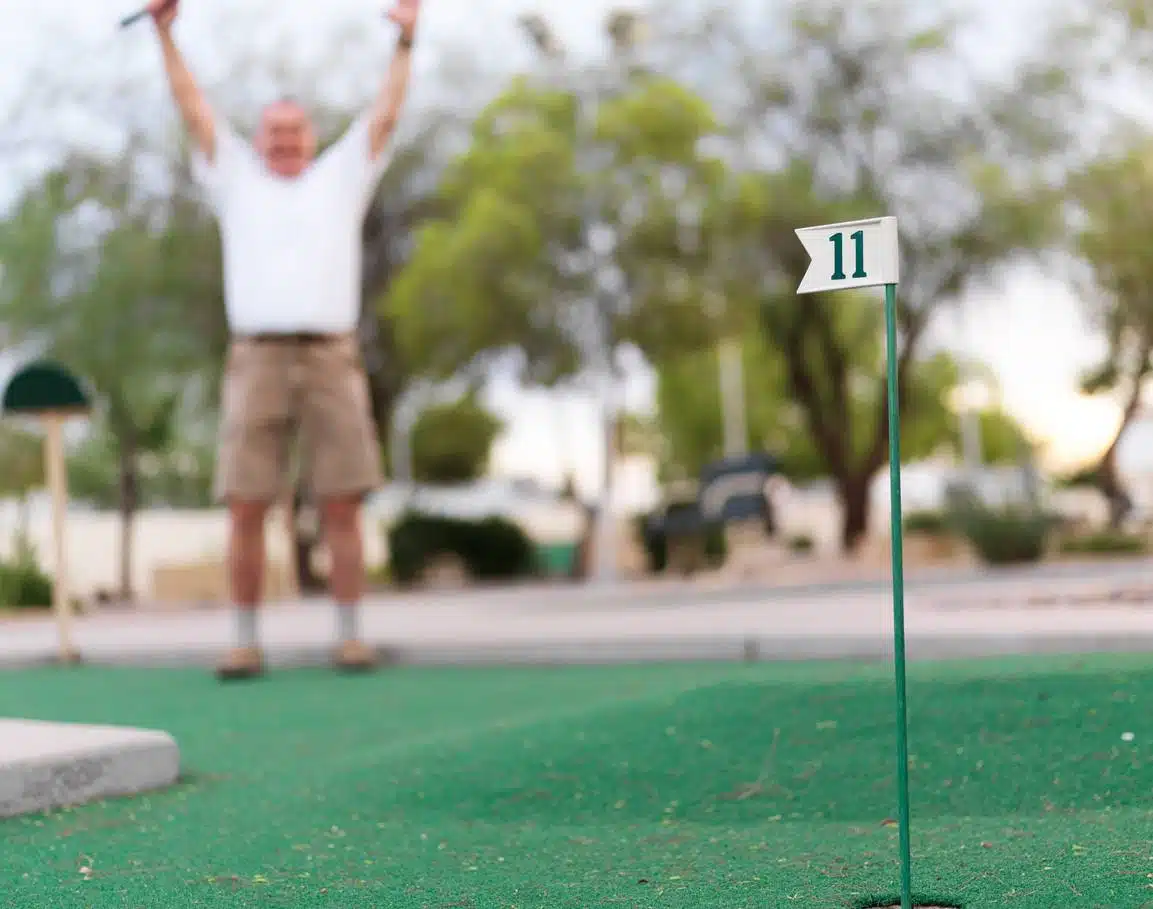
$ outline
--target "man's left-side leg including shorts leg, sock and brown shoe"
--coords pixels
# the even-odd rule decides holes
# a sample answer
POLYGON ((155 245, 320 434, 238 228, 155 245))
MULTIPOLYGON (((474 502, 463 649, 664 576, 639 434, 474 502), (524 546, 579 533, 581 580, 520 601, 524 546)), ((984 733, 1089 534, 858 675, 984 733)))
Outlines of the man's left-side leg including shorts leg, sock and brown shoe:
POLYGON ((257 610, 264 581, 264 521, 287 468, 289 363, 278 345, 233 345, 225 371, 217 497, 228 505, 228 586, 235 646, 217 667, 221 679, 264 671, 257 610))

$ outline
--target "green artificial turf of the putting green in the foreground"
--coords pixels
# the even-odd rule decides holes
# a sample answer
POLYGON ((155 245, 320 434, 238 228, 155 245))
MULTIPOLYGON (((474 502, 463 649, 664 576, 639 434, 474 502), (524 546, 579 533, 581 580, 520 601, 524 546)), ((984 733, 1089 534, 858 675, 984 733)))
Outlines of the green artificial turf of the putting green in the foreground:
MULTIPOLYGON (((1153 907, 1153 658, 917 666, 914 886, 1153 907), (1122 734, 1132 731, 1132 743, 1122 734)), ((0 906, 861 907, 896 897, 884 666, 0 674, 188 779, 0 822, 0 906)))

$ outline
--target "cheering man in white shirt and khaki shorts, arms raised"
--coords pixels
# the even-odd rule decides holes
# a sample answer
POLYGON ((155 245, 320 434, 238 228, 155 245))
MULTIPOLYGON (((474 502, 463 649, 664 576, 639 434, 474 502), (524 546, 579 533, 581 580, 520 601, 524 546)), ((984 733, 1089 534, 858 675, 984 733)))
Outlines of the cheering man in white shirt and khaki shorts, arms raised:
POLYGON ((264 108, 251 144, 212 110, 173 39, 179 7, 166 0, 149 12, 193 140, 194 172, 220 225, 232 335, 216 491, 228 508, 236 641, 217 675, 248 678, 264 669, 257 629, 264 524, 285 490, 297 435, 331 557, 333 661, 369 669, 376 654, 357 629, 360 506, 382 476, 355 335, 361 231, 407 91, 419 0, 398 0, 389 15, 399 37, 375 103, 319 156, 308 113, 293 99, 264 108))

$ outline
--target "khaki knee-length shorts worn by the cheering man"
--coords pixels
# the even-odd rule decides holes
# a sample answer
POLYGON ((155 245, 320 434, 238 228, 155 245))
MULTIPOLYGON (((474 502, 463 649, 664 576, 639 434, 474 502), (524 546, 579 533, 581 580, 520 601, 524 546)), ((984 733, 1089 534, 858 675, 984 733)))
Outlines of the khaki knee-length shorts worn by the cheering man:
POLYGON ((382 482, 360 347, 351 335, 243 338, 225 367, 216 495, 272 502, 288 491, 293 444, 317 498, 382 482))

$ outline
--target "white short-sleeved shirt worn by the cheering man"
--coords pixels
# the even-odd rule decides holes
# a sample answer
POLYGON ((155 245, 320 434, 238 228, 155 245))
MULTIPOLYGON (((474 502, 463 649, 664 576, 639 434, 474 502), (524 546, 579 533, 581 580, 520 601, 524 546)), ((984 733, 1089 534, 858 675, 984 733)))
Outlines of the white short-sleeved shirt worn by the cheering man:
POLYGON ((300 176, 272 173, 218 119, 216 155, 193 172, 224 243, 225 305, 235 335, 353 331, 361 307, 361 231, 389 155, 375 160, 369 119, 300 176))

